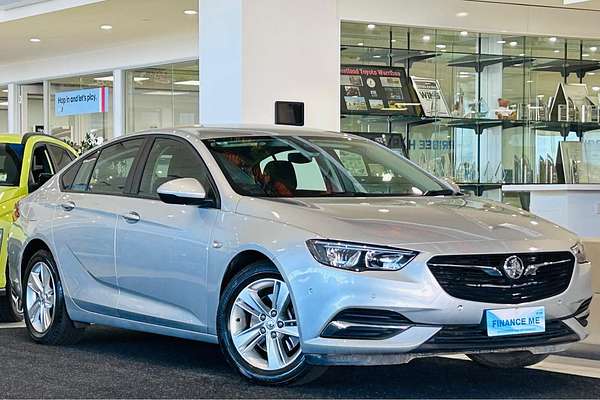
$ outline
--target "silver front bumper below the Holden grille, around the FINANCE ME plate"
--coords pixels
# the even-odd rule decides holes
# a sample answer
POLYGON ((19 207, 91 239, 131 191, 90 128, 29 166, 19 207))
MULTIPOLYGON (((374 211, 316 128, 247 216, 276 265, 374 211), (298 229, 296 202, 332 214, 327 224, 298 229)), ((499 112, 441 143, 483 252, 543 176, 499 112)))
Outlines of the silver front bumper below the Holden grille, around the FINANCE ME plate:
MULTIPOLYGON (((319 264, 289 271, 286 275, 299 311, 307 360, 320 365, 380 365, 440 354, 518 350, 551 353, 563 351, 587 336, 585 326, 575 317, 580 306, 592 297, 589 263, 575 265, 569 287, 559 295, 522 304, 494 304, 450 296, 429 271, 427 258, 415 259, 398 272, 354 273, 319 264), (475 342, 465 338, 458 338, 452 345, 440 342, 449 329, 484 329, 485 310, 535 306, 544 307, 548 326, 556 323, 565 329, 552 337, 524 335, 496 341, 485 335, 475 342), (395 312, 411 324, 398 334, 378 340, 323 334, 341 311, 355 308, 395 312)), ((309 262, 306 258, 301 261, 309 262)))

